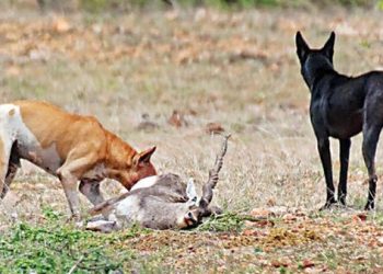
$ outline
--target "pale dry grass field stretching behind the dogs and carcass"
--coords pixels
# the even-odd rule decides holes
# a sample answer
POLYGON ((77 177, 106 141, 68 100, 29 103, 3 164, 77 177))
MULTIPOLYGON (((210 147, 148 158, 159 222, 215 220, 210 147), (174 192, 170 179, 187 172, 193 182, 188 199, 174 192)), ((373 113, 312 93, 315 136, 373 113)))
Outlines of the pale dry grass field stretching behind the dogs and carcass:
MULTIPOLYGON (((302 30, 312 45, 321 46, 335 30, 336 68, 358 75, 383 67, 381 15, 359 10, 197 10, 62 18, 1 11, 1 101, 47 100, 95 115, 136 148, 156 145, 153 162, 160 172, 197 182, 207 179, 218 149, 217 137, 205 133, 206 124, 220 123, 233 137, 217 204, 234 212, 268 205, 315 210, 324 203, 325 183, 294 33, 302 30), (188 126, 167 123, 174 110, 185 115, 188 126), (159 127, 138 130, 143 114, 159 127)), ((359 209, 368 192, 360 140, 351 149, 348 192, 348 203, 359 209)), ((336 175, 337 149, 335 144, 336 175)), ((382 156, 379 149, 379 167, 382 156)), ((379 183, 378 210, 382 189, 379 183)), ((119 186, 105 182, 103 190, 113 195, 119 186)), ((2 226, 14 213, 18 220, 38 224, 44 206, 67 210, 57 180, 27 164, 12 192, 18 204, 11 209, 0 205, 2 226)), ((83 206, 89 204, 83 201, 83 206)))

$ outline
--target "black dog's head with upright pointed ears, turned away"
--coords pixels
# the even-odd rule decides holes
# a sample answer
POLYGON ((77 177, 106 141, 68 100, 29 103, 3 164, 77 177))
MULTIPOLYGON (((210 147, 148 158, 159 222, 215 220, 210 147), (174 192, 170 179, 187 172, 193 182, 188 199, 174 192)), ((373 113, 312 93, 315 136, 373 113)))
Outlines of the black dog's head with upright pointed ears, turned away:
POLYGON ((335 33, 332 32, 327 42, 321 49, 311 49, 300 32, 295 35, 297 55, 301 62, 301 73, 311 88, 315 77, 333 71, 335 33))

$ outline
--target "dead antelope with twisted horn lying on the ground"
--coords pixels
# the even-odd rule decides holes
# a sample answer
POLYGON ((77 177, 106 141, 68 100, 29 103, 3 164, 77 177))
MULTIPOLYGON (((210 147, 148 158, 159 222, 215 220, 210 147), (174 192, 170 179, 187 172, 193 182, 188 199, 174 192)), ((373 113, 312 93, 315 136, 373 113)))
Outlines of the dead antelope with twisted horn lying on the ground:
POLYGON ((111 231, 132 224, 152 229, 183 229, 197 226, 202 217, 217 209, 209 207, 212 190, 218 182, 223 157, 228 149, 224 138, 200 199, 193 181, 185 184, 176 174, 167 173, 141 180, 129 193, 111 198, 90 210, 92 216, 103 214, 107 220, 91 221, 88 229, 111 231))

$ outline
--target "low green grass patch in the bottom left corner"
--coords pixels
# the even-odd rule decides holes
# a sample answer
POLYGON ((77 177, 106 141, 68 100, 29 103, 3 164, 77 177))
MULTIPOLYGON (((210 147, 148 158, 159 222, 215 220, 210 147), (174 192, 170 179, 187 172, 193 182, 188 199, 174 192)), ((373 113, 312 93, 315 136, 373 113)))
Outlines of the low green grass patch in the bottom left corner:
MULTIPOLYGON (((48 218, 57 215, 48 210, 48 218)), ((124 241, 143 230, 131 228, 102 235, 56 221, 32 226, 20 222, 0 239, 0 273, 107 273, 126 269, 136 254, 120 249, 124 241), (76 266, 73 266, 76 265, 76 266)))

